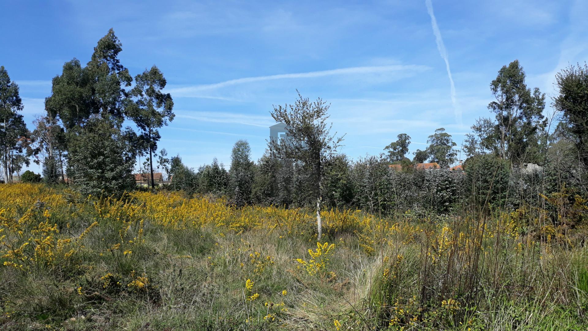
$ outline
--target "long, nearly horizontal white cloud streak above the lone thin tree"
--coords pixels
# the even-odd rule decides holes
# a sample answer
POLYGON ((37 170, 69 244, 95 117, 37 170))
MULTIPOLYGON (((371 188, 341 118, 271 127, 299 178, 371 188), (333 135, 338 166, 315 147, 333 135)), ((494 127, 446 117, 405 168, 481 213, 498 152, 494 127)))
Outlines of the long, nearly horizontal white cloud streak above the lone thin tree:
POLYGON ((233 85, 248 84, 252 82, 273 81, 273 80, 287 80, 300 78, 320 78, 335 75, 359 75, 359 74, 376 74, 390 71, 425 71, 429 69, 425 65, 378 65, 369 67, 349 67, 331 70, 298 72, 295 74, 278 74, 258 77, 237 78, 235 80, 228 80, 214 84, 202 84, 189 87, 169 88, 166 91, 175 97, 201 97, 202 92, 217 90, 233 85))

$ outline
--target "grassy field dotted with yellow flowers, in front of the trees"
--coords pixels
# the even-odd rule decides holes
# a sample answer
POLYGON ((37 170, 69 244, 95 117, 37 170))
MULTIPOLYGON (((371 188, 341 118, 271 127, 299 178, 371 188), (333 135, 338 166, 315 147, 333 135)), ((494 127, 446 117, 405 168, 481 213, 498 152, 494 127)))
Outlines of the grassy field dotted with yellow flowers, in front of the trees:
POLYGON ((586 330, 585 230, 0 186, 0 330, 586 330))

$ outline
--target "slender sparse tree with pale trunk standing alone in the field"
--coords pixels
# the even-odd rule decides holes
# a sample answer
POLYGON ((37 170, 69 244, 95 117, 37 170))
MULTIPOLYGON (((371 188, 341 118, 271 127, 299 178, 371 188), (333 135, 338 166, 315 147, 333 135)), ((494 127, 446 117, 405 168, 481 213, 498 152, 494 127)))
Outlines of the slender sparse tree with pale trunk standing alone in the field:
MULTIPOLYGON (((298 91, 297 91, 298 92, 298 91)), ((313 194, 316 196, 316 225, 318 240, 322 236, 320 204, 322 203, 322 179, 325 163, 336 154, 343 137, 331 135, 329 105, 321 98, 311 102, 298 93, 295 104, 279 105, 270 112, 278 123, 284 123, 288 130, 286 137, 268 142, 273 155, 301 161, 312 172, 313 194)))

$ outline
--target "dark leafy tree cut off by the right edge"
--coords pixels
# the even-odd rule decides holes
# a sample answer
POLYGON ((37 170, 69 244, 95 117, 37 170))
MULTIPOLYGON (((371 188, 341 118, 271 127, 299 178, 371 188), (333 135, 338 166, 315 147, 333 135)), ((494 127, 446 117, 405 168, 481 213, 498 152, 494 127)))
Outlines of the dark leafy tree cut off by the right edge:
POLYGON ((562 131, 573 141, 577 156, 588 166, 588 65, 570 65, 556 75, 559 95, 554 107, 562 115, 562 131))

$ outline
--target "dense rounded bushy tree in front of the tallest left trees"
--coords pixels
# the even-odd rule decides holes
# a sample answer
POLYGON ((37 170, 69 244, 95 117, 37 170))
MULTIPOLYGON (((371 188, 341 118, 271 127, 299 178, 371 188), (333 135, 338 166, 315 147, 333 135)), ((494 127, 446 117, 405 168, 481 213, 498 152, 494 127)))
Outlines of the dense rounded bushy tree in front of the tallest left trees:
POLYGON ((84 195, 121 196, 135 187, 135 151, 111 121, 90 118, 72 144, 69 177, 84 195))

